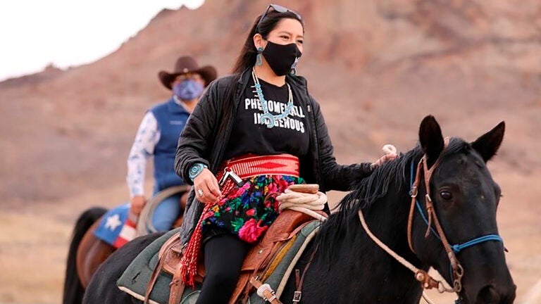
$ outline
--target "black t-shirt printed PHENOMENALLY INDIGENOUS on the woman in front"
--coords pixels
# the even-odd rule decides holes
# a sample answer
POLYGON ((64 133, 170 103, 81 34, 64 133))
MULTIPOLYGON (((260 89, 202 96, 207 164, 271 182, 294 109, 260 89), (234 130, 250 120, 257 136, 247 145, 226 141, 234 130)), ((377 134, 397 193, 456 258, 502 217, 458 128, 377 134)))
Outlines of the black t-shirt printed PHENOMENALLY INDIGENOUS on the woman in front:
MULTIPOLYGON (((289 99, 287 84, 277 87, 263 80, 259 80, 259 83, 267 101, 268 112, 275 117, 285 113, 289 99)), ((254 80, 250 78, 225 149, 226 160, 249 153, 260 156, 280 153, 299 158, 306 156, 310 139, 306 129, 306 113, 299 106, 299 101, 293 99, 290 115, 276 119, 274 127, 270 129, 261 121, 261 115, 263 108, 259 103, 254 80)))

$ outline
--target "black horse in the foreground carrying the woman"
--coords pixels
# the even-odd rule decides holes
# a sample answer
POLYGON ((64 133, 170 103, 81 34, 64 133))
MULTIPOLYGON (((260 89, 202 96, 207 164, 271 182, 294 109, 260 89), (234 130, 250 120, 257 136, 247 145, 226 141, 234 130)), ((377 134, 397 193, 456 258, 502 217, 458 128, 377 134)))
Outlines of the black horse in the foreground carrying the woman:
MULTIPOLYGON (((502 122, 472 143, 452 138, 444 146, 440 126, 427 116, 419 129, 420 146, 359 181, 340 203, 340 210, 322 224, 297 263, 296 268, 302 270, 313 258, 302 284, 301 303, 419 303, 421 284, 368 238, 359 222, 359 210, 363 210, 373 234, 393 251, 422 270, 434 267, 452 285, 454 278, 442 241, 434 232, 425 236, 424 209, 413 213, 414 252, 409 248, 406 227, 413 172, 423 155, 429 167, 439 159, 428 189, 449 243, 497 235, 500 189, 485 164, 497 152, 503 136, 502 122), (314 255, 313 248, 317 248, 314 255)), ((423 198, 422 178, 418 189, 418 198, 423 198)), ((140 303, 115 283, 135 255, 159 235, 136 239, 113 253, 92 278, 83 303, 140 303)), ((477 243, 456 253, 456 258, 464 268, 461 303, 513 303, 516 286, 506 266, 502 242, 492 238, 477 243)), ((291 276, 280 296, 283 303, 292 302, 294 287, 291 276)))

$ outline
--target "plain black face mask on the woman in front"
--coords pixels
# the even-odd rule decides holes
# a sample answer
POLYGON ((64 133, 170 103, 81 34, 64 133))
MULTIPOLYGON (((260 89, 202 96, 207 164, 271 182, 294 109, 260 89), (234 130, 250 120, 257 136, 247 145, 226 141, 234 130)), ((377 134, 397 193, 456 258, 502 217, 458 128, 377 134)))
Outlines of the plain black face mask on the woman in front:
POLYGON ((263 50, 265 60, 278 76, 287 75, 287 73, 297 65, 301 55, 302 53, 299 51, 297 44, 294 43, 275 44, 273 42, 268 42, 263 50))

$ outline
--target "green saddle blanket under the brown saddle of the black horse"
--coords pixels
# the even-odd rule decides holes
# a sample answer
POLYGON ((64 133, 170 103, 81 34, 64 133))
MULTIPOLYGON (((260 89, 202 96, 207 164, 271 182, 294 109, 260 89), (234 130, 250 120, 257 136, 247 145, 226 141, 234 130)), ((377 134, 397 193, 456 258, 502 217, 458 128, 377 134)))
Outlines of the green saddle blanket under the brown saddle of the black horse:
MULTIPOLYGON (((301 257, 304 249, 308 243, 313 239, 313 236, 319 230, 321 222, 313 220, 306 224, 294 239, 294 242, 287 253, 283 255, 282 260, 275 267, 275 270, 270 274, 263 283, 269 284, 274 291, 276 291, 277 298, 280 298, 282 291, 285 288, 287 279, 293 270, 297 260, 301 257)), ((154 267, 158 263, 158 251, 173 234, 178 233, 180 228, 173 229, 170 232, 164 234, 160 238, 156 239, 147 248, 137 255, 137 258, 132 261, 130 266, 125 270, 120 279, 116 282, 118 288, 131 296, 144 300, 144 294, 147 291, 147 284, 150 280, 154 267)), ((170 274, 161 272, 154 289, 150 294, 150 303, 152 304, 167 304, 169 299, 169 284, 173 277, 170 274)), ((184 294, 182 295, 181 304, 195 303, 199 296, 200 284, 195 285, 195 289, 191 289, 186 286, 184 294)), ((257 296, 256 293, 252 293, 249 297, 249 304, 264 304, 266 303, 263 298, 257 296)))

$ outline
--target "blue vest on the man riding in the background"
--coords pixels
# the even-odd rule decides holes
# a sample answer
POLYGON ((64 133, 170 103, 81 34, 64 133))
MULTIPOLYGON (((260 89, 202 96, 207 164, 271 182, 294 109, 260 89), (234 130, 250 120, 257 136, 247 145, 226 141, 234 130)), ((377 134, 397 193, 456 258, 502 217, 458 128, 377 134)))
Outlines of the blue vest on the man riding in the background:
POLYGON ((161 191, 170 186, 184 184, 175 172, 175 153, 178 137, 186 125, 189 113, 175 103, 173 98, 154 106, 150 111, 156 117, 160 132, 160 140, 154 147, 154 189, 161 191))

